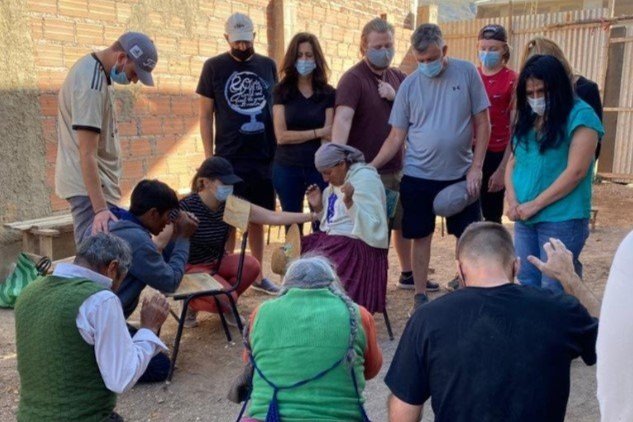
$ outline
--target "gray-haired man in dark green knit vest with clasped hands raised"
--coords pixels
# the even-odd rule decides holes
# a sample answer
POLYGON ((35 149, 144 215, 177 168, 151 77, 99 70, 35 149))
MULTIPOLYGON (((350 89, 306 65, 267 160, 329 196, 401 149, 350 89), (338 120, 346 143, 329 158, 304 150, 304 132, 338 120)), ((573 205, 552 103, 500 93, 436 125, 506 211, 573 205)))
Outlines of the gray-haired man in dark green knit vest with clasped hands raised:
POLYGON ((18 421, 122 421, 116 394, 130 389, 160 349, 169 305, 143 302, 130 337, 116 291, 131 262, 129 245, 99 233, 82 242, 73 264, 31 283, 15 306, 18 421))

